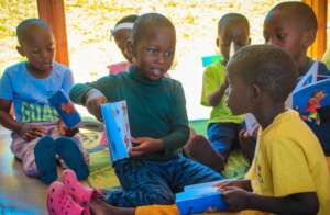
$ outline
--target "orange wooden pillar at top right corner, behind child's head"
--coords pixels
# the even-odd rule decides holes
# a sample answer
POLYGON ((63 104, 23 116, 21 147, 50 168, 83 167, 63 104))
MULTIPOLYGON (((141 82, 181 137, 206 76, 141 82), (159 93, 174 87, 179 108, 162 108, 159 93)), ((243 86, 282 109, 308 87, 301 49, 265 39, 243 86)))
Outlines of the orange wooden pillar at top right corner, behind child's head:
POLYGON ((304 0, 310 5, 318 19, 318 33, 315 43, 308 54, 315 59, 320 59, 327 49, 327 0, 304 0))

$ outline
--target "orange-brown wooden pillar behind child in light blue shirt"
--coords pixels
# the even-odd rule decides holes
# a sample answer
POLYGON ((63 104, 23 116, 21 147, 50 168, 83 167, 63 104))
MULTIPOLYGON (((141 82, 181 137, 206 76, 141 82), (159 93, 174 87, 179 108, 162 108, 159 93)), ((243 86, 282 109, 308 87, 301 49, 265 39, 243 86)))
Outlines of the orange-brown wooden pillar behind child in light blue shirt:
POLYGON ((53 30, 56 41, 56 61, 69 66, 65 10, 63 0, 37 0, 38 16, 53 30))

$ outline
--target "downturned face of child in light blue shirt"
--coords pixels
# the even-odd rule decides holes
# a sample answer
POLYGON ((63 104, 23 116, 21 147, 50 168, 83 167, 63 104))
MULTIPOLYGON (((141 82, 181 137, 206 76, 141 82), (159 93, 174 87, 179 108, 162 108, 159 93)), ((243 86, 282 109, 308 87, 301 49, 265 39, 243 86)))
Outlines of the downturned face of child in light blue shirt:
POLYGON ((26 56, 35 72, 46 72, 53 69, 55 44, 50 30, 36 29, 26 33, 24 43, 18 47, 18 50, 22 56, 26 56))

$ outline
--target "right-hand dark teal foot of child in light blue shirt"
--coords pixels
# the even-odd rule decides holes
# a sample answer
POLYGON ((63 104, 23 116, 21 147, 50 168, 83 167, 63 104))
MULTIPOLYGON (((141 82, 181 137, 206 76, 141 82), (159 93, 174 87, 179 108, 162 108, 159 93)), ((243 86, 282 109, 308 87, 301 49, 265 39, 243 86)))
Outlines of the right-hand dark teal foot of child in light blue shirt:
POLYGON ((75 139, 69 137, 58 137, 55 140, 56 152, 64 162, 76 172, 79 180, 87 179, 89 174, 88 166, 85 162, 82 152, 79 150, 75 139))

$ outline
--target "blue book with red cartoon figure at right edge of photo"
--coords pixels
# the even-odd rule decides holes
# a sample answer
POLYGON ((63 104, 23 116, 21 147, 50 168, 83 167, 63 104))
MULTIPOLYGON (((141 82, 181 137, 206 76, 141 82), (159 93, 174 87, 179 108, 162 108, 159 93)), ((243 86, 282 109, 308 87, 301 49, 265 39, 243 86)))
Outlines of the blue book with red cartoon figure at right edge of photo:
POLYGON ((320 125, 320 110, 326 110, 329 105, 330 79, 312 82, 293 93, 293 106, 306 122, 320 125))

